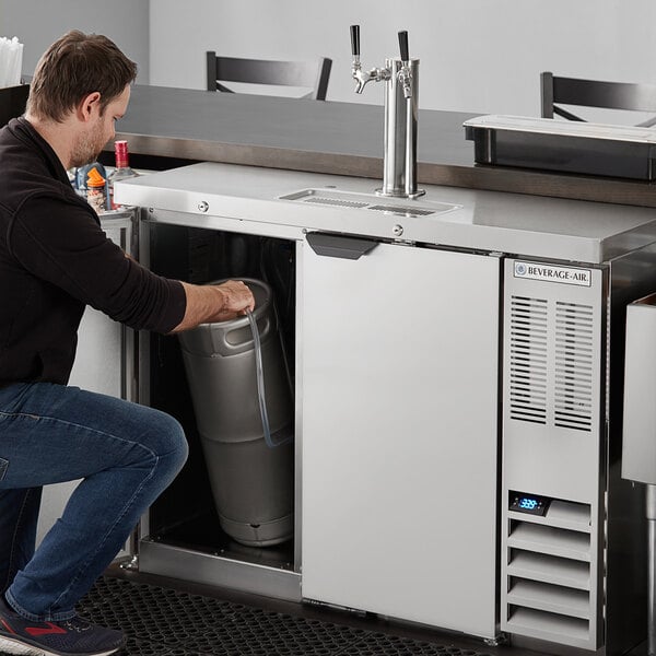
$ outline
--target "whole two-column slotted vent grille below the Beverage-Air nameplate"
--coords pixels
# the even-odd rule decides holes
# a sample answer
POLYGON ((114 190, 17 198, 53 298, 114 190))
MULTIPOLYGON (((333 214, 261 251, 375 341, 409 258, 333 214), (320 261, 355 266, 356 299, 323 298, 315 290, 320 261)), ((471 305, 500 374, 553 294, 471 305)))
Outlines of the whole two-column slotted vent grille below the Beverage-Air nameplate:
POLYGON ((511 297, 511 419, 593 431, 594 321, 591 305, 511 297))

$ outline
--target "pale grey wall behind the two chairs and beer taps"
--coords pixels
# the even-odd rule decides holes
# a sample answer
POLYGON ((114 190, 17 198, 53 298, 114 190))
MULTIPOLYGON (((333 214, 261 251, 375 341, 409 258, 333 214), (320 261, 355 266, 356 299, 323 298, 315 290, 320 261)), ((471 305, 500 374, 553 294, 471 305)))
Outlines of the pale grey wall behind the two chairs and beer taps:
POLYGON ((654 0, 151 0, 151 84, 204 87, 204 51, 333 60, 329 101, 356 96, 349 25, 361 25, 362 61, 383 66, 408 30, 419 57, 420 107, 539 115, 542 70, 656 83, 654 0))

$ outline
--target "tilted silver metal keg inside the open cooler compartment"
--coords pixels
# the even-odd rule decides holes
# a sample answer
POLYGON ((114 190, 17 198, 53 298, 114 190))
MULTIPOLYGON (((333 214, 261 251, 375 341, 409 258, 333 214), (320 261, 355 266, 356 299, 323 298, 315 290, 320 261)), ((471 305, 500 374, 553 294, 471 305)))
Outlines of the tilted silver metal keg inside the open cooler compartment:
POLYGON ((293 400, 272 290, 243 280, 255 296, 269 443, 248 317, 201 324, 178 339, 221 527, 242 544, 267 547, 293 535, 293 400))

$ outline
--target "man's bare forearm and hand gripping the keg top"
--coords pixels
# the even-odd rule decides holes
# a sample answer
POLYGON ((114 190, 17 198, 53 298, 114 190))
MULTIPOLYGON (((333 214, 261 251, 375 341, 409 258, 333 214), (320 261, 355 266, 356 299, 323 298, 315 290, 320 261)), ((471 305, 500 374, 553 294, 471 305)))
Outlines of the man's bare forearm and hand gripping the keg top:
POLYGON ((199 324, 225 321, 255 308, 253 292, 241 280, 221 284, 189 284, 181 282, 187 298, 183 320, 172 330, 181 332, 199 324))

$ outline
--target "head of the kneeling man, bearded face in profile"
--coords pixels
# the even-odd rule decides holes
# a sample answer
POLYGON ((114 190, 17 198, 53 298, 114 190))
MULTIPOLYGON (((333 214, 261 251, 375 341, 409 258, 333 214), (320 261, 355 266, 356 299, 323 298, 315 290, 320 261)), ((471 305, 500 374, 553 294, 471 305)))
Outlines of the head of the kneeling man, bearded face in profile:
POLYGON ((114 121, 127 109, 136 75, 137 65, 106 36, 73 30, 40 58, 26 118, 66 167, 81 166, 115 137, 114 121))

